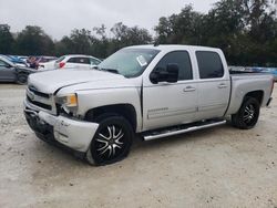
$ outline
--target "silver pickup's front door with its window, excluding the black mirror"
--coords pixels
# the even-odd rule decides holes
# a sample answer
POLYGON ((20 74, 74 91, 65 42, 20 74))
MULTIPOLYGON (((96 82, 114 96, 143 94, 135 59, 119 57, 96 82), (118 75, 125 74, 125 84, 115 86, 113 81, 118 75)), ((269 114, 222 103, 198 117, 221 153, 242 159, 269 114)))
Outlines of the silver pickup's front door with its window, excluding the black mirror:
POLYGON ((178 65, 177 83, 155 84, 150 81, 148 76, 143 77, 144 131, 189 123, 195 119, 197 83, 194 82, 189 53, 187 51, 170 52, 162 58, 153 71, 165 71, 167 64, 178 65))

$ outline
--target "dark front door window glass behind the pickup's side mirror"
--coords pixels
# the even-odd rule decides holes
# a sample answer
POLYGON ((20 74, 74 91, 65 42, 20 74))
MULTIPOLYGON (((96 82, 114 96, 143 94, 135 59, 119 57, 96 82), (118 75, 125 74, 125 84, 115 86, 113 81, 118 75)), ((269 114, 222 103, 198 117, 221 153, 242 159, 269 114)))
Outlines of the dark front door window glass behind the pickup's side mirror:
POLYGON ((156 65, 156 70, 166 71, 168 63, 178 65, 178 80, 193 80, 191 58, 187 51, 174 51, 167 53, 156 65))

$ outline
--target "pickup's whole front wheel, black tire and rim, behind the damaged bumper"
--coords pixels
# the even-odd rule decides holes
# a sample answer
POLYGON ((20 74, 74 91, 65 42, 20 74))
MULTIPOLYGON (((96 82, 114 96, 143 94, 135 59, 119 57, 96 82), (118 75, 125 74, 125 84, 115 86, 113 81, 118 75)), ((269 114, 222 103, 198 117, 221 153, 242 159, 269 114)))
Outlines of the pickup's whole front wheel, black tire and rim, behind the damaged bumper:
POLYGON ((124 159, 133 143, 134 132, 122 116, 102 116, 99 128, 86 152, 91 165, 109 165, 124 159))

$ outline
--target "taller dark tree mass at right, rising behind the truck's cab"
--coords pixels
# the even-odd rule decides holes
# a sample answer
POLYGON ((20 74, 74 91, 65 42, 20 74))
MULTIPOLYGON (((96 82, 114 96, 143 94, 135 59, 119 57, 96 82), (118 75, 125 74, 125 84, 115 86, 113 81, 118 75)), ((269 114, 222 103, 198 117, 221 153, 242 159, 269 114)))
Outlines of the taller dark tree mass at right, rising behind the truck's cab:
POLYGON ((220 0, 207 14, 186 6, 161 18, 155 31, 158 43, 220 48, 229 64, 277 65, 276 10, 268 0, 220 0))

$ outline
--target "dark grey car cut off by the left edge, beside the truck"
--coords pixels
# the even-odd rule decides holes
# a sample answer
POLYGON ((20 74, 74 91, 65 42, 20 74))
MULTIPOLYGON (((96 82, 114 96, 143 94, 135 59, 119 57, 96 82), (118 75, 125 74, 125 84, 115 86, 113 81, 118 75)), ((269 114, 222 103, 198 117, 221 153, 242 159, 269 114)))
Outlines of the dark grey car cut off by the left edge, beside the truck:
POLYGON ((25 84, 29 74, 35 72, 32 69, 16 65, 4 56, 0 56, 0 81, 25 84))

